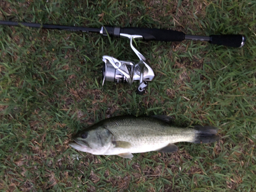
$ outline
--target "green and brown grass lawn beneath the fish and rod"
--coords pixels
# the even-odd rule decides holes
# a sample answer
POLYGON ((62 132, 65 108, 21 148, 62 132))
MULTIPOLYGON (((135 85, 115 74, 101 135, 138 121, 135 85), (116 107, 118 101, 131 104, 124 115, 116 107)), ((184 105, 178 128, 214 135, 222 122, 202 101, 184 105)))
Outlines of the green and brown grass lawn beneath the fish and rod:
POLYGON ((250 0, 1 1, 1 20, 243 34, 247 42, 238 49, 138 41, 156 72, 139 96, 137 84, 101 87, 103 55, 137 61, 127 40, 0 26, 0 189, 255 191, 255 10, 250 0), (176 153, 135 154, 132 161, 68 146, 83 127, 124 114, 218 126, 222 139, 179 143, 176 153))

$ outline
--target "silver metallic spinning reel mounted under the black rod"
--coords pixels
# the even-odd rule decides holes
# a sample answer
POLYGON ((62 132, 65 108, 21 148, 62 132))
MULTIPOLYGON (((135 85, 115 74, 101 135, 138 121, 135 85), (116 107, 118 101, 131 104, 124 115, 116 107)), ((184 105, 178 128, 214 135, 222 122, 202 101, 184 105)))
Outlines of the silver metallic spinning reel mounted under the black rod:
POLYGON ((137 93, 142 95, 148 86, 148 81, 152 81, 155 77, 151 66, 146 62, 146 58, 133 46, 133 39, 142 39, 141 35, 129 35, 120 33, 120 37, 129 38, 130 46, 135 54, 139 57, 139 62, 122 61, 111 56, 104 55, 102 60, 104 66, 102 68, 102 86, 105 81, 129 83, 131 86, 133 81, 139 81, 137 93))

